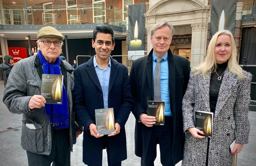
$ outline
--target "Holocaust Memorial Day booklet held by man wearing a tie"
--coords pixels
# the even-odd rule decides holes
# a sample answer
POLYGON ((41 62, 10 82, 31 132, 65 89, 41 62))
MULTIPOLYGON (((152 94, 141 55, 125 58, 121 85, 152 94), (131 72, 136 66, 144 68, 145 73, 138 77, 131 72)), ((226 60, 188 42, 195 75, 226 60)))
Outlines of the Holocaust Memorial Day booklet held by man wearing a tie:
POLYGON ((157 126, 164 125, 165 101, 147 101, 147 115, 155 117, 157 126))

